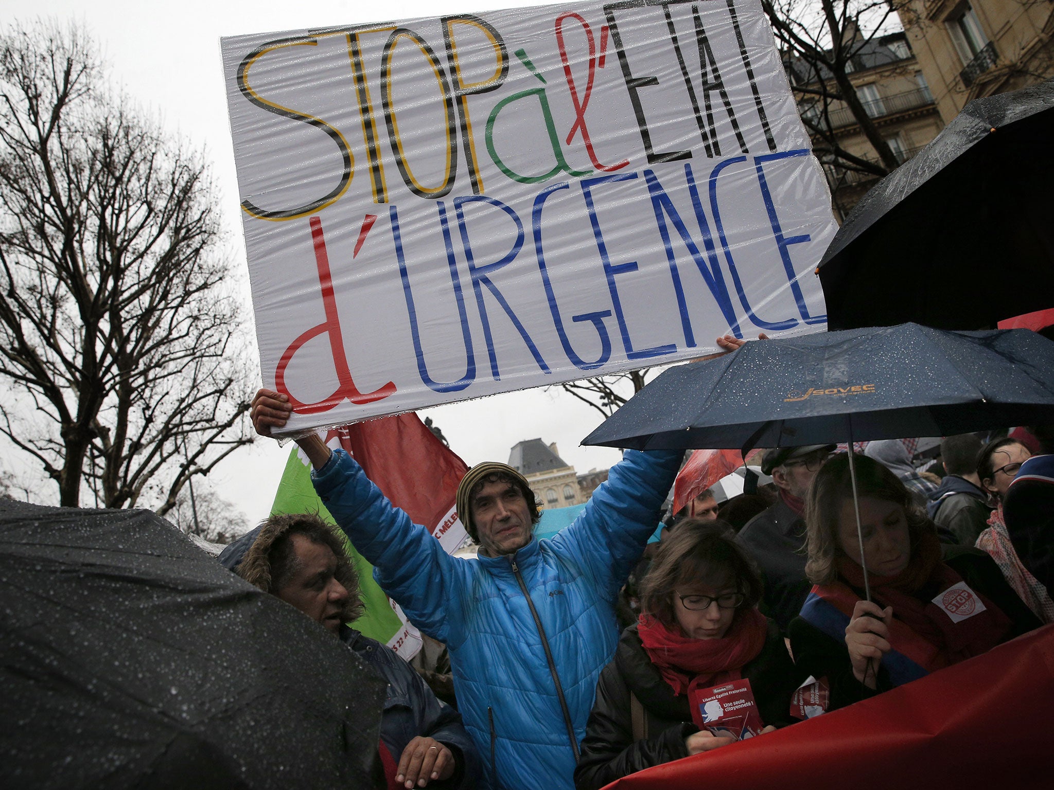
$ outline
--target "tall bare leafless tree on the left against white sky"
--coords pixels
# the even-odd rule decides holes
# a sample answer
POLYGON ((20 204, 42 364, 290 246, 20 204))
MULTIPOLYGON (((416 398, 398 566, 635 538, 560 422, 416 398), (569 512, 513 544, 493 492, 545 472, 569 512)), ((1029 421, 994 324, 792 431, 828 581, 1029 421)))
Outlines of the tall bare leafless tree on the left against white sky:
POLYGON ((169 510, 252 440, 208 169, 76 26, 0 33, 0 435, 61 505, 169 510))

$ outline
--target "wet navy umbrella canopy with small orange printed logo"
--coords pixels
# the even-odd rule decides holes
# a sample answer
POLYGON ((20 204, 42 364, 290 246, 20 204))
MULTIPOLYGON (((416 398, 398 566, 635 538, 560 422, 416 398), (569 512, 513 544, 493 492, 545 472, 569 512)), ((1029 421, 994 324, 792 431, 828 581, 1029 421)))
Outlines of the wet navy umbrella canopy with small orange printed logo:
POLYGON ((1054 342, 907 323, 748 342, 671 368, 582 443, 783 447, 1042 422, 1054 422, 1054 342))

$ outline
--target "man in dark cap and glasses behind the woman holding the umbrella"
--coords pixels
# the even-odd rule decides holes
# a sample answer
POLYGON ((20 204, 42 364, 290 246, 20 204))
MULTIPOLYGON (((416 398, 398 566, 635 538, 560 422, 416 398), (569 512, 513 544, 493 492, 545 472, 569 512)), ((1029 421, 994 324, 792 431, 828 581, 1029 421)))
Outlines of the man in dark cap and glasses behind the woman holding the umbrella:
POLYGON ((786 631, 813 585, 805 578, 805 494, 835 445, 781 447, 765 451, 761 471, 779 489, 776 503, 740 530, 736 539, 761 569, 762 609, 786 631))

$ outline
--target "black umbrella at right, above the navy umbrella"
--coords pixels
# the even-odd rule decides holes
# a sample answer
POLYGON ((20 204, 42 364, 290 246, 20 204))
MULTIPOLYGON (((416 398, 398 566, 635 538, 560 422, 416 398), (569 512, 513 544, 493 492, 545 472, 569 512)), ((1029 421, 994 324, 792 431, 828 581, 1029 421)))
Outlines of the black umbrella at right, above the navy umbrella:
POLYGON ((831 329, 994 328, 1054 307, 1054 80, 976 99, 873 187, 820 261, 831 329))

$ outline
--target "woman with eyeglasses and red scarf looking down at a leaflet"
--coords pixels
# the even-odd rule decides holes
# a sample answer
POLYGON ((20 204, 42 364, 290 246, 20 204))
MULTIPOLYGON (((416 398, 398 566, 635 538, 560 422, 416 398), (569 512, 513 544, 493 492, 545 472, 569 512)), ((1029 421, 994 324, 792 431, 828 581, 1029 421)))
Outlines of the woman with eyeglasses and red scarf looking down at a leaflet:
POLYGON ((723 521, 686 518, 660 545, 641 584, 640 619, 597 686, 579 790, 734 743, 692 710, 723 684, 749 682, 762 732, 793 720, 800 679, 776 624, 755 606, 761 579, 734 537, 723 521))

